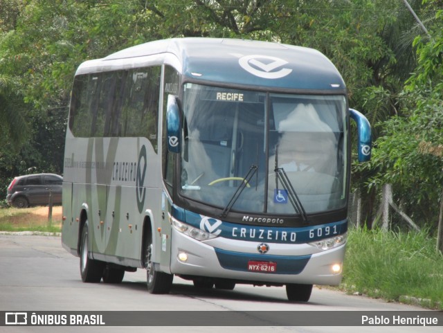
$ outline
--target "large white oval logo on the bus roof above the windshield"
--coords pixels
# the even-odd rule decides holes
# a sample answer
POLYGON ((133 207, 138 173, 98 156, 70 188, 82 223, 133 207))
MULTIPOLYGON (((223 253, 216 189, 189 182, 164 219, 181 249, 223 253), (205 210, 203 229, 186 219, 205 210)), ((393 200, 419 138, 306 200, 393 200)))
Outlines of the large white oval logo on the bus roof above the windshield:
POLYGON ((238 60, 242 69, 264 79, 280 79, 289 75, 292 69, 282 68, 288 64, 286 60, 269 55, 245 55, 238 60), (276 71, 277 69, 280 69, 276 71))

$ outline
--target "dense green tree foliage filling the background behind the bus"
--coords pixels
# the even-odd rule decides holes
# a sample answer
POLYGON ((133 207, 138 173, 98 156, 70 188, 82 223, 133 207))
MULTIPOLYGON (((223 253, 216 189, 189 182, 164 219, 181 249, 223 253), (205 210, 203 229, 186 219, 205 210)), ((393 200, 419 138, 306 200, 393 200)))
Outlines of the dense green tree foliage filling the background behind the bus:
POLYGON ((62 173, 81 62, 153 39, 237 37, 325 53, 377 138, 373 161, 354 165, 367 219, 379 186, 389 182, 417 223, 435 224, 443 1, 409 3, 429 35, 400 0, 0 0, 0 197, 17 174, 62 173))

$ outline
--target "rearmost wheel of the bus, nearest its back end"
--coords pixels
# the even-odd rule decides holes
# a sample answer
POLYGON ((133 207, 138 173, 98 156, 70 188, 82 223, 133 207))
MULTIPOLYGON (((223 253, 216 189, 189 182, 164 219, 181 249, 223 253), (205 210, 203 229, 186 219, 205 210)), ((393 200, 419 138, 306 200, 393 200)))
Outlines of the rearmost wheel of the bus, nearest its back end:
POLYGON ((80 275, 83 282, 97 283, 102 280, 104 263, 88 257, 88 224, 85 223, 80 238, 80 275))

